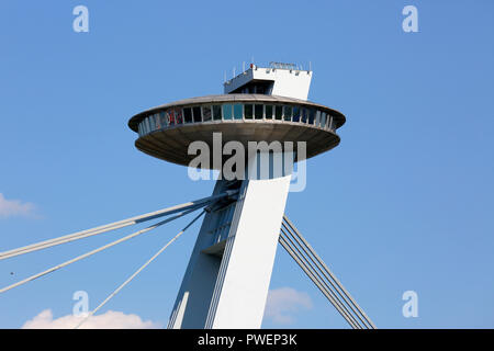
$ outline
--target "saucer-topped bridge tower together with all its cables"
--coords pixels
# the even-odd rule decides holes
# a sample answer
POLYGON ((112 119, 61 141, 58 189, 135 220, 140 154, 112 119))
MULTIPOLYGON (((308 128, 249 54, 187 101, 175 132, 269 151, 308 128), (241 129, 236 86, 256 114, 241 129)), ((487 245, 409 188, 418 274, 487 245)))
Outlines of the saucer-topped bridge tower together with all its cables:
MULTIPOLYGON (((207 197, 0 251, 0 261, 96 235, 154 223, 7 286, 0 296, 99 252, 201 211, 74 328, 128 285, 204 216, 168 328, 261 327, 278 244, 353 329, 375 325, 284 214, 290 191, 305 186, 305 159, 339 144, 345 116, 307 101, 312 71, 292 64, 250 67, 224 83, 224 94, 167 103, 128 121, 137 149, 188 166, 192 179, 217 171, 207 197), (296 162, 296 170, 295 170, 296 162), (190 170, 193 170, 191 173, 190 170)), ((207 178, 206 178, 207 179, 207 178)), ((3 249, 3 245, 2 249, 3 249)))

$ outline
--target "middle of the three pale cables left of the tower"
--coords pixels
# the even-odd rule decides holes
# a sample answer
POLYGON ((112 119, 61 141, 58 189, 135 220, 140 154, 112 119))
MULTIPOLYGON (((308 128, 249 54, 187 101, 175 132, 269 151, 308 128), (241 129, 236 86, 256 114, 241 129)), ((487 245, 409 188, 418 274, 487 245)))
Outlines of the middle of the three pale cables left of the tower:
POLYGON ((135 233, 133 233, 133 234, 131 234, 131 235, 127 235, 127 236, 125 236, 125 237, 123 237, 123 238, 121 238, 121 239, 117 239, 117 240, 112 241, 112 242, 110 242, 110 244, 106 244, 106 245, 104 245, 104 246, 102 246, 102 247, 100 247, 100 248, 97 248, 97 249, 94 249, 94 250, 91 250, 91 251, 89 251, 89 252, 86 252, 86 253, 83 253, 83 254, 81 254, 81 256, 78 256, 78 257, 76 257, 76 258, 74 258, 74 259, 71 259, 71 260, 68 260, 68 261, 66 261, 66 262, 64 262, 64 263, 57 264, 57 265, 55 265, 55 267, 52 267, 52 268, 49 268, 49 269, 47 269, 47 270, 45 270, 45 271, 43 271, 43 272, 36 273, 36 274, 34 274, 34 275, 31 275, 31 276, 29 276, 29 278, 26 278, 26 279, 24 279, 24 280, 22 280, 22 281, 19 281, 19 282, 16 282, 16 283, 14 283, 14 284, 11 284, 11 285, 9 285, 9 286, 5 286, 5 287, 3 287, 3 288, 0 288, 0 294, 1 294, 1 293, 4 293, 4 292, 7 292, 7 291, 9 291, 9 290, 11 290, 11 288, 18 287, 18 286, 23 285, 23 284, 25 284, 25 283, 29 283, 29 282, 31 282, 31 281, 34 281, 35 279, 38 279, 38 278, 41 278, 41 276, 43 276, 43 275, 46 275, 46 274, 52 273, 52 272, 55 272, 55 271, 59 270, 60 268, 64 268, 64 267, 66 267, 66 265, 69 265, 69 264, 75 263, 75 262, 77 262, 77 261, 80 261, 80 260, 82 260, 82 259, 85 259, 85 258, 88 258, 88 257, 94 254, 94 253, 98 253, 98 252, 103 251, 103 250, 105 250, 105 249, 108 249, 108 248, 111 248, 111 247, 113 247, 113 246, 115 246, 115 245, 117 245, 117 244, 121 244, 121 242, 124 242, 124 241, 126 241, 126 240, 128 240, 128 239, 132 239, 132 238, 134 238, 134 237, 136 237, 136 236, 138 236, 138 235, 142 235, 142 234, 147 233, 147 231, 149 231, 149 230, 151 230, 151 229, 155 229, 155 228, 157 228, 157 227, 159 227, 159 226, 161 226, 161 225, 164 225, 164 224, 166 224, 166 223, 168 223, 168 222, 171 222, 171 220, 173 220, 173 219, 180 218, 180 217, 182 217, 182 216, 184 216, 184 215, 187 215, 187 214, 189 214, 189 213, 191 213, 191 212, 193 212, 193 211, 195 211, 195 210, 198 210, 198 208, 191 208, 191 210, 184 211, 184 212, 182 212, 182 213, 180 213, 180 214, 178 214, 178 215, 176 215, 176 216, 173 216, 173 217, 171 217, 171 218, 167 218, 167 219, 165 219, 165 220, 158 222, 157 224, 154 224, 154 225, 151 225, 151 226, 149 226, 149 227, 147 227, 147 228, 137 230, 137 231, 135 231, 135 233))

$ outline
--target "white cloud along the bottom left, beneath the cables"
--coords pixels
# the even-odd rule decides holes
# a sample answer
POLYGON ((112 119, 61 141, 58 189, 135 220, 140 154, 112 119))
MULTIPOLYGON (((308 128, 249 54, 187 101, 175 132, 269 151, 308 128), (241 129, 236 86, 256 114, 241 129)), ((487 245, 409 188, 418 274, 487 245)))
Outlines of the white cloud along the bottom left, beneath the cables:
MULTIPOLYGON (((74 315, 53 319, 50 309, 45 309, 27 320, 23 329, 72 329, 83 317, 74 315)), ((151 320, 143 320, 137 315, 126 315, 122 312, 109 310, 102 315, 89 317, 79 329, 156 329, 161 328, 160 324, 151 320)))

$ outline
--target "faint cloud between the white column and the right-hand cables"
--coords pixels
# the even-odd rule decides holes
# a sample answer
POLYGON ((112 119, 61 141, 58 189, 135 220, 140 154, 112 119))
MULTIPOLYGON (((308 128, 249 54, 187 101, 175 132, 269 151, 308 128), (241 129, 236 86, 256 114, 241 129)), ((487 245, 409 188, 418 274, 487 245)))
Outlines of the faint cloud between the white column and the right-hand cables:
POLYGON ((265 318, 276 324, 291 324, 293 314, 301 309, 311 309, 312 301, 306 293, 292 287, 270 290, 265 308, 265 318))

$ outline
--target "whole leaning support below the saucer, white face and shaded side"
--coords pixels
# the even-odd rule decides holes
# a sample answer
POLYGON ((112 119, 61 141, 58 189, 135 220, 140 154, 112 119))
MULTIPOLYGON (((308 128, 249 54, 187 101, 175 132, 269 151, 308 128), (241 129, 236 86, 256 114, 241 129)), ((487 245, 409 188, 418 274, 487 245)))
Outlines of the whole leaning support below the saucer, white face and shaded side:
POLYGON ((261 327, 290 180, 240 181, 238 200, 206 215, 168 328, 261 327))

